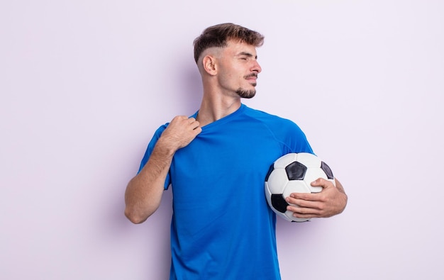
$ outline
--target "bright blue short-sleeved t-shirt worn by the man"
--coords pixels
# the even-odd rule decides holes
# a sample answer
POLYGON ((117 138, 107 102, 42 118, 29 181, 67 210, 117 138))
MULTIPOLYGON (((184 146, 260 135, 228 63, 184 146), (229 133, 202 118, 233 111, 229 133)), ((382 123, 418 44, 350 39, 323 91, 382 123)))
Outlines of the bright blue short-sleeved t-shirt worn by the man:
MULTIPOLYGON (((156 131, 140 169, 166 127, 156 131)), ((177 150, 165 181, 173 193, 170 279, 280 279, 264 181, 289 152, 312 152, 301 129, 244 104, 177 150)))

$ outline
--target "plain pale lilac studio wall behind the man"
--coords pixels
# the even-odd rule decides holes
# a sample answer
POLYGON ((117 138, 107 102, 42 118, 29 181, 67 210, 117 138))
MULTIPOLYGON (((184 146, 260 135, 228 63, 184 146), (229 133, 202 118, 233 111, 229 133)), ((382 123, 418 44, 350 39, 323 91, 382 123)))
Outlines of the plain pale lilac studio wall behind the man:
POLYGON ((167 279, 171 191, 142 225, 123 193, 155 129, 199 107, 192 41, 225 22, 265 35, 245 103, 298 123, 349 196, 333 218, 278 221, 282 278, 443 279, 443 13, 440 0, 2 1, 1 279, 167 279))

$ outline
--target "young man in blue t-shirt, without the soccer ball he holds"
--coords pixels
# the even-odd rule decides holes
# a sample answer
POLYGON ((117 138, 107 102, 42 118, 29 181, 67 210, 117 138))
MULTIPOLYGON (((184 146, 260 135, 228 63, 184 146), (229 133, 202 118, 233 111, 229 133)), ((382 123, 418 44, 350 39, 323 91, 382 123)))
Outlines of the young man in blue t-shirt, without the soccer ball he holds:
MULTIPOLYGON (((270 164, 289 152, 312 152, 292 121, 241 103, 255 96, 256 47, 263 36, 231 23, 194 40, 204 95, 192 117, 176 116, 152 138, 126 189, 125 214, 143 223, 173 188, 170 279, 280 279, 276 216, 267 206, 270 164)), ((318 179, 318 194, 292 194, 299 218, 329 217, 347 203, 343 186, 318 179)))

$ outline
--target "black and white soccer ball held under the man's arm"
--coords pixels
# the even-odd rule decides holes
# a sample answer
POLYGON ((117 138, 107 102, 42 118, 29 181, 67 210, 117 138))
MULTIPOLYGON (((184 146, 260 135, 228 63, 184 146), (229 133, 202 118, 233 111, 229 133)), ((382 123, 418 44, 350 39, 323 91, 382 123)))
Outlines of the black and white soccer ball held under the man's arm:
POLYGON ((335 184, 333 172, 321 159, 307 152, 289 153, 279 157, 268 170, 265 178, 265 196, 272 211, 291 222, 305 222, 309 218, 296 218, 287 211, 285 198, 292 193, 318 193, 321 186, 311 186, 318 178, 335 184))

